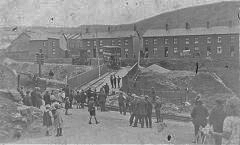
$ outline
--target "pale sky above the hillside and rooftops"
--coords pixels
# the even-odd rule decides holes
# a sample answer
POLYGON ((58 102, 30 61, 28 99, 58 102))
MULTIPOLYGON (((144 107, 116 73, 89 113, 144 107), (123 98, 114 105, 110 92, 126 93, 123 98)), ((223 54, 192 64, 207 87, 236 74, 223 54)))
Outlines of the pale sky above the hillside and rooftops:
POLYGON ((166 11, 220 1, 223 0, 0 0, 0 26, 127 24, 166 11))

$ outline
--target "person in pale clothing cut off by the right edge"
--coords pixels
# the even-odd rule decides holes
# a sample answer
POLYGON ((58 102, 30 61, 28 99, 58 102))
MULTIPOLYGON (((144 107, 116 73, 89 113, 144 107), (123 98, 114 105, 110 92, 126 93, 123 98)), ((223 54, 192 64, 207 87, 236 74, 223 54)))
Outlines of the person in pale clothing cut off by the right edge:
POLYGON ((227 145, 240 144, 240 99, 236 96, 231 97, 226 102, 227 117, 223 123, 223 132, 210 132, 213 136, 223 138, 227 145))

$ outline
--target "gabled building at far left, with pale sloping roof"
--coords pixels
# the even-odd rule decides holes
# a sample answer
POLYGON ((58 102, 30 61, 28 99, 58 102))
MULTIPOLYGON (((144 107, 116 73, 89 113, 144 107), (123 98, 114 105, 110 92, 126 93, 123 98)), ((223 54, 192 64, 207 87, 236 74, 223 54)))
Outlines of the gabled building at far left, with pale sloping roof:
POLYGON ((46 59, 66 56, 67 42, 63 35, 27 31, 21 33, 7 48, 6 55, 17 60, 34 61, 42 49, 46 59))

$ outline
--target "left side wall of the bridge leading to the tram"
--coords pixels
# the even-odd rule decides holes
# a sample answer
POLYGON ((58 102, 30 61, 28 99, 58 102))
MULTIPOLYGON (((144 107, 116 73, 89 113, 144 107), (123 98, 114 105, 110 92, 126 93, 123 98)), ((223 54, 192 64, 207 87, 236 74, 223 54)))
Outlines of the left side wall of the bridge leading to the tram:
MULTIPOLYGON (((108 72, 108 67, 106 65, 100 66, 100 75, 103 75, 108 72)), ((68 85, 71 88, 78 88, 90 81, 98 78, 99 75, 99 67, 95 67, 94 69, 74 76, 67 80, 68 85)))

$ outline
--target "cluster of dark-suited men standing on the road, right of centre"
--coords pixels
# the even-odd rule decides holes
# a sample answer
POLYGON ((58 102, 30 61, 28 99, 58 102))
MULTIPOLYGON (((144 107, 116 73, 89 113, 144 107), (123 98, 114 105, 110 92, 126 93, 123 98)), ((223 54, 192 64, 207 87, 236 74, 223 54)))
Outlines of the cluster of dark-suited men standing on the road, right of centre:
POLYGON ((154 99, 147 95, 141 95, 139 97, 135 94, 128 94, 127 97, 123 97, 123 93, 120 92, 118 97, 120 114, 126 115, 126 111, 129 111, 129 126, 133 125, 133 127, 138 127, 137 125, 140 123, 141 128, 144 128, 145 122, 147 128, 152 128, 153 108, 155 109, 157 116, 156 123, 163 122, 163 119, 160 115, 162 102, 160 102, 158 96, 154 97, 154 99))

